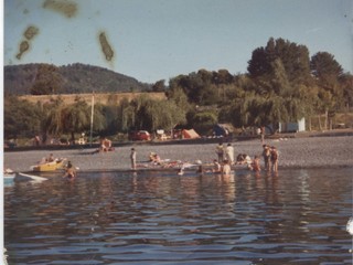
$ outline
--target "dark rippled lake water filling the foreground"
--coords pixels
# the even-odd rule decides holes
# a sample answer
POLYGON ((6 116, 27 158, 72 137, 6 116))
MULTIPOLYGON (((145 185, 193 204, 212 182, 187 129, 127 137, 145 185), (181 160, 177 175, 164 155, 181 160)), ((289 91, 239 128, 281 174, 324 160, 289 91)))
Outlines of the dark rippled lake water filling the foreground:
POLYGON ((9 264, 352 264, 353 168, 79 173, 4 188, 9 264))

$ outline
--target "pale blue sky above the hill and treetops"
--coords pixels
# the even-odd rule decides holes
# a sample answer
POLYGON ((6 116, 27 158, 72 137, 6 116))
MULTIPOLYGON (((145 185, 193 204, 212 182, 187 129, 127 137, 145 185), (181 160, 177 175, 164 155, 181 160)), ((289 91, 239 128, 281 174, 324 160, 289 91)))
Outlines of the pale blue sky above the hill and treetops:
MULTIPOLYGON (((154 83, 201 68, 246 73, 269 38, 329 52, 353 73, 353 0, 46 0, 76 3, 67 18, 45 0, 4 0, 4 65, 83 63, 154 83), (39 29, 17 59, 28 26, 39 29), (114 51, 105 60, 105 32, 114 51)), ((63 4, 62 4, 63 6, 63 4)))

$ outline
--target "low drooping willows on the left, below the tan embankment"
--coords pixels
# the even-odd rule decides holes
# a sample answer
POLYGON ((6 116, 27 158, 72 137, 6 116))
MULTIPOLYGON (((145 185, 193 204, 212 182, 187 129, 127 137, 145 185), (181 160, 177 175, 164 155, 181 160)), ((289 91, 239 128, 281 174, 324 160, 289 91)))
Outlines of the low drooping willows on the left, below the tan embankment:
POLYGON ((76 134, 90 130, 92 117, 95 135, 109 136, 131 129, 172 129, 186 123, 186 110, 181 109, 173 98, 152 99, 148 94, 130 102, 124 98, 118 105, 95 104, 94 108, 79 96, 71 105, 60 97, 45 104, 32 104, 6 96, 4 137, 31 138, 41 134, 45 140, 46 136, 69 135, 71 140, 75 140, 76 134))

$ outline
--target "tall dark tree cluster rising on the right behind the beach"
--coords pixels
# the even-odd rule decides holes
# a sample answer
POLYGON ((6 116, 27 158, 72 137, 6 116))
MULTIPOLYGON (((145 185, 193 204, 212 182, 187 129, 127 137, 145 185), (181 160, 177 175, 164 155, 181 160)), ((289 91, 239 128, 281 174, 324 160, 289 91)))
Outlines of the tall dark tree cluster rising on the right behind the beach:
MULTIPOLYGON (((353 76, 328 52, 311 59, 304 45, 270 39, 256 49, 248 73, 200 70, 171 78, 167 92, 182 89, 191 103, 212 105, 218 119, 239 126, 263 126, 325 114, 330 127, 336 112, 353 104, 353 76), (221 115, 220 115, 221 114, 221 115)), ((161 87, 161 81, 154 89, 161 87)))

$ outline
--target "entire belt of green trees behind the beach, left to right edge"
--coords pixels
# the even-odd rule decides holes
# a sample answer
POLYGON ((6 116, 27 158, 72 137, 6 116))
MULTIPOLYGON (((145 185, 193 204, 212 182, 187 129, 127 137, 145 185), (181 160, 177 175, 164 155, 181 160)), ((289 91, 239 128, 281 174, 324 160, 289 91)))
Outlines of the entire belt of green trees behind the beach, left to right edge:
MULTIPOLYGON (((104 135, 131 129, 171 129, 176 125, 205 134, 216 123, 235 127, 264 126, 325 114, 323 128, 336 112, 353 104, 353 76, 343 73, 334 56, 319 52, 311 59, 303 45, 270 39, 254 50, 248 73, 200 70, 157 82, 152 89, 164 92, 167 100, 141 96, 118 105, 96 105, 94 130, 104 135)), ((40 89, 42 85, 33 87, 40 89)), ((43 86, 46 86, 45 84, 43 86)), ((6 137, 71 134, 89 129, 90 106, 79 97, 75 104, 62 100, 31 105, 15 97, 4 99, 6 137)))

